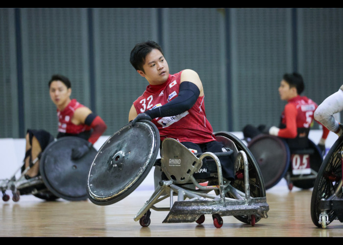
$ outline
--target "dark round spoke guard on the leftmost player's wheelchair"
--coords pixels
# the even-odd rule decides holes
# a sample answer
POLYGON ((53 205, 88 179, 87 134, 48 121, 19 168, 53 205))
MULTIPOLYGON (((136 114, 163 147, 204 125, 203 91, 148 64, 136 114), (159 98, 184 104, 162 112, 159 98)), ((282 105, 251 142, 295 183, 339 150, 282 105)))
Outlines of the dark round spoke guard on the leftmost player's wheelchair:
POLYGON ((55 196, 72 201, 87 199, 87 174, 97 150, 91 148, 82 158, 72 160, 72 149, 85 143, 79 137, 62 137, 43 151, 39 170, 44 184, 55 196))

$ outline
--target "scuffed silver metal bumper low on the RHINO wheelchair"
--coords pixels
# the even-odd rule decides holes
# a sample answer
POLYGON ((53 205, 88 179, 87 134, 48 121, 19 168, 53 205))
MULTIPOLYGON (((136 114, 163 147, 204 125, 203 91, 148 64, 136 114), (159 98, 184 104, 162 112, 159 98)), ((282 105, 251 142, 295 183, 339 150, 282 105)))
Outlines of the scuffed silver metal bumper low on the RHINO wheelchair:
POLYGON ((266 197, 249 200, 231 200, 221 204, 221 200, 175 201, 163 223, 194 222, 200 215, 219 214, 221 216, 261 215, 267 218, 269 205, 266 197))

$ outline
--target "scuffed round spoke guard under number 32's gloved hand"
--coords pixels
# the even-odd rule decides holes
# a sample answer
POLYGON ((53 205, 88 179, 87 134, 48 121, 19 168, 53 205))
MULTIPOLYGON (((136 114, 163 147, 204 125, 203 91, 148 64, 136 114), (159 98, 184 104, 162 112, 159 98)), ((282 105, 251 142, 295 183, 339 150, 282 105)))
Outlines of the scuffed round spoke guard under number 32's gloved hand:
POLYGON ((157 127, 142 120, 126 124, 98 150, 88 174, 87 195, 110 205, 131 194, 147 177, 160 147, 157 127))

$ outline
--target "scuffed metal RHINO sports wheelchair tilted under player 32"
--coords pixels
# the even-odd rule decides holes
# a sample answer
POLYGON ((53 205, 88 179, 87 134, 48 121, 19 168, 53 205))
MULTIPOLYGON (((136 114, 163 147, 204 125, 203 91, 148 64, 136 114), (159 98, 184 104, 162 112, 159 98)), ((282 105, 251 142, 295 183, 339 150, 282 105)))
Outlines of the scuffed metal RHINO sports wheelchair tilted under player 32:
POLYGON ((221 216, 232 215, 239 221, 255 225, 268 218, 269 205, 264 181, 254 157, 246 146, 228 132, 217 132, 218 141, 228 152, 204 152, 196 155, 178 141, 167 138, 160 143, 157 127, 142 120, 126 124, 100 147, 88 176, 87 194, 97 205, 114 204, 131 194, 155 166, 164 175, 155 177, 155 191, 134 217, 140 225, 150 224, 150 209, 169 211, 163 223, 194 222, 201 224, 212 215, 215 227, 223 224, 221 216), (161 158, 157 159, 161 144, 161 158), (235 180, 221 173, 218 156, 235 159, 235 180), (207 164, 208 179, 196 179, 195 173, 207 164), (162 176, 165 176, 163 178, 162 176), (157 183, 157 184, 156 184, 157 183), (177 200, 173 197, 177 196, 177 200), (169 207, 157 207, 170 198, 169 207))

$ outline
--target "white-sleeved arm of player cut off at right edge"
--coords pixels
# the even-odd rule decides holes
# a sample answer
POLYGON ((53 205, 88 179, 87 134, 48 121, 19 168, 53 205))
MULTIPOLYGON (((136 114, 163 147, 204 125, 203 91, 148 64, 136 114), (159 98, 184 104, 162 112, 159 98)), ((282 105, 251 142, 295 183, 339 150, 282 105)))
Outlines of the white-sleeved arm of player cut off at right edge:
POLYGON ((314 117, 316 121, 324 125, 327 129, 341 136, 343 133, 343 125, 333 116, 335 113, 341 111, 343 111, 343 85, 336 93, 324 99, 316 109, 314 117))

